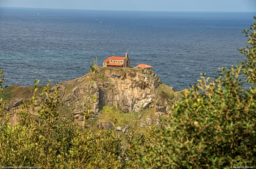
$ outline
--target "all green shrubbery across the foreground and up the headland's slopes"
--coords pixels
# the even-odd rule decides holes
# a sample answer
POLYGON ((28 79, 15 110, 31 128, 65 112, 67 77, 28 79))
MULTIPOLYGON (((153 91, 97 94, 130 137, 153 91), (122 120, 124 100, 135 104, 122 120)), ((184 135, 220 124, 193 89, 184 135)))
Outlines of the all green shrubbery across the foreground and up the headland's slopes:
MULTIPOLYGON (((1 99, 0 165, 41 168, 256 167, 256 23, 244 32, 249 37, 250 46, 240 49, 240 52, 246 56, 246 61, 222 68, 215 80, 205 79, 203 73, 197 84, 182 91, 180 101, 175 100, 174 91, 164 90, 166 86, 159 84, 155 105, 167 102, 172 106, 171 113, 163 121, 157 119, 158 124, 164 124, 164 127, 148 125, 148 130, 136 137, 134 134, 122 136, 112 129, 92 133, 86 123, 83 123, 83 128, 79 127, 74 116, 60 117, 65 106, 61 104, 57 87, 49 90, 49 84, 38 95, 35 81, 33 95, 24 100, 16 111, 19 121, 15 125, 8 123, 8 113, 3 116, 6 110, 1 99), (245 77, 245 81, 241 77, 245 77), (252 86, 245 89, 244 83, 252 86)), ((99 75, 99 81, 107 80, 107 77, 103 80, 99 75)), ((84 81, 93 84, 93 77, 90 74, 84 77, 84 81)), ((87 83, 79 81, 65 85, 87 83)), ((2 82, 0 71, 0 84, 2 82)), ((95 86, 86 87, 87 99, 81 115, 84 122, 93 123, 95 119, 89 117, 92 116, 92 106, 97 102, 91 92, 95 86)), ((70 95, 72 91, 66 88, 62 92, 70 95)), ((156 106, 149 107, 144 113, 161 109, 156 106)), ((121 116, 121 109, 114 106, 103 106, 100 111, 106 116, 100 116, 99 121, 120 117, 127 122, 131 118, 129 113, 121 116), (111 112, 117 114, 112 115, 111 112)), ((140 113, 143 112, 134 114, 140 113)), ((123 122, 116 123, 125 125, 123 122)))

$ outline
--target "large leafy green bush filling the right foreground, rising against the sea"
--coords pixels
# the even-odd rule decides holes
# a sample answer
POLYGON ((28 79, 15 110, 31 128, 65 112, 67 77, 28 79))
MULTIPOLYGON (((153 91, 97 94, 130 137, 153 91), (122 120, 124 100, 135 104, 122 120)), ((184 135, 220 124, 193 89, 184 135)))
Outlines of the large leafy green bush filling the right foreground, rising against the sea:
POLYGON ((148 168, 255 167, 255 25, 244 31, 252 46, 240 50, 248 60, 222 68, 216 80, 205 79, 203 73, 172 106, 172 124, 151 130, 142 156, 148 168), (244 89, 241 76, 252 87, 244 89))

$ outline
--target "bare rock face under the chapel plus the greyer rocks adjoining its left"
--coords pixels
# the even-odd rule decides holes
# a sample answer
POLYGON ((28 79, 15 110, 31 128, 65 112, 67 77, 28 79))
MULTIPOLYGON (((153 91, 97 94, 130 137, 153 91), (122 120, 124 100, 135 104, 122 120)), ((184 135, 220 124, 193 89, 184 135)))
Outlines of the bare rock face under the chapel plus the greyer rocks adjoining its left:
POLYGON ((87 83, 81 83, 81 79, 78 79, 81 84, 65 97, 65 101, 77 98, 89 101, 96 96, 92 104, 94 113, 98 113, 99 108, 105 105, 114 105, 124 113, 141 111, 156 100, 155 89, 161 84, 161 80, 151 70, 101 67, 96 69, 95 77, 93 82, 87 83))

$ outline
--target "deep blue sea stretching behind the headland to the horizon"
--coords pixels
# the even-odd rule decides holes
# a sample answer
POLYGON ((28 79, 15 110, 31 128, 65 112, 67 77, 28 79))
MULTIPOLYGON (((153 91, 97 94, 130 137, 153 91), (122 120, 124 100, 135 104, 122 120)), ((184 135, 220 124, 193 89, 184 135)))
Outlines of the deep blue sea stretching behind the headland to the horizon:
POLYGON ((109 56, 152 65, 176 91, 218 75, 244 56, 241 31, 256 12, 93 11, 0 7, 0 69, 5 85, 74 79, 109 56), (39 13, 39 15, 38 15, 39 13), (101 23, 100 23, 101 21, 101 23))

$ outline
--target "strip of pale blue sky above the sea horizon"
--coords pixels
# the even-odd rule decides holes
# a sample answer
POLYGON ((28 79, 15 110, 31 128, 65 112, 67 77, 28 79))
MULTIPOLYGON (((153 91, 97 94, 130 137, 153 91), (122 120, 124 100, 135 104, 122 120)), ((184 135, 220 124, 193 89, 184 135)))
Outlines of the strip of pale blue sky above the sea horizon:
POLYGON ((0 6, 122 11, 256 11, 256 0, 0 0, 0 6))

